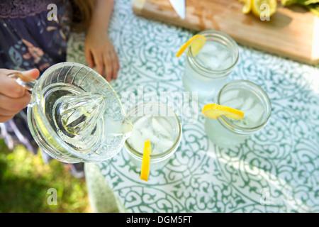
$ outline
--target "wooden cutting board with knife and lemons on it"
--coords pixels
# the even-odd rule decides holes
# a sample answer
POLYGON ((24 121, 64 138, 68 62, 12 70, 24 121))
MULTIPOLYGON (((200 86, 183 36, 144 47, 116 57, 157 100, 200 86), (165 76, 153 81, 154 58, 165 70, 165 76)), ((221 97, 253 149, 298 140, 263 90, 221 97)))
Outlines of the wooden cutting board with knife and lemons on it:
POLYGON ((293 60, 319 62, 319 17, 301 6, 278 6, 270 21, 242 13, 237 0, 186 0, 186 18, 179 18, 169 0, 133 0, 133 11, 147 18, 194 31, 214 29, 237 43, 293 60))

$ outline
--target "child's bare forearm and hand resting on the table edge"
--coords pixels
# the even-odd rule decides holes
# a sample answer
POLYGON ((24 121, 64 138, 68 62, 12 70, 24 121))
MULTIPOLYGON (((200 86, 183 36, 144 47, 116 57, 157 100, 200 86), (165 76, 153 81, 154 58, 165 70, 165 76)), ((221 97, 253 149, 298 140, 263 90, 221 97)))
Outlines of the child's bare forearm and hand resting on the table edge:
POLYGON ((110 81, 117 77, 120 64, 118 55, 108 37, 108 23, 113 11, 113 0, 96 0, 85 40, 85 58, 89 67, 110 81))

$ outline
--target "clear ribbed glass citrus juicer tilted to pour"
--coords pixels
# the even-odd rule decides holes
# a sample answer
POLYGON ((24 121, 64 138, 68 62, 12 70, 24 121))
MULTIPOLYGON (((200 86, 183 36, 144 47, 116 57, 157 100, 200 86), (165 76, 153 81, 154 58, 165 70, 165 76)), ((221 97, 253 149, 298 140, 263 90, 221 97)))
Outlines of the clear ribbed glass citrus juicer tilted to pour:
POLYGON ((40 79, 11 74, 30 91, 28 126, 36 143, 61 162, 99 162, 115 156, 133 131, 110 84, 85 65, 62 62, 40 79))

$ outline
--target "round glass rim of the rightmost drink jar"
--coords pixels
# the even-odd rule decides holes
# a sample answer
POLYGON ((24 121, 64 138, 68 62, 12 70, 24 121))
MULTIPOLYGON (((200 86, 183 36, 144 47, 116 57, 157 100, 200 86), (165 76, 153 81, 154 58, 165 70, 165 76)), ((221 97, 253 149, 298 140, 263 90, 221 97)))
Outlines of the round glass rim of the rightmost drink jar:
MULTIPOLYGON (((259 85, 255 84, 254 82, 251 82, 249 80, 245 79, 237 79, 232 82, 228 82, 228 84, 225 84, 220 91, 218 92, 218 95, 216 96, 216 104, 220 105, 220 96, 223 93, 223 90, 225 90, 228 87, 234 86, 234 85, 245 85, 249 86, 255 91, 257 91, 259 94, 257 96, 261 97, 263 99, 265 107, 265 111, 267 111, 266 117, 264 117, 264 120, 262 123, 259 123, 257 126, 254 127, 241 127, 237 126, 237 124, 233 123, 230 121, 226 116, 220 116, 217 120, 228 130, 230 131, 235 131, 235 133, 240 133, 240 134, 250 134, 256 131, 259 131, 261 128, 263 128, 269 121, 270 116, 272 115, 272 103, 269 99, 269 96, 267 93, 260 87, 259 85)), ((256 93, 256 92, 255 92, 256 93)))

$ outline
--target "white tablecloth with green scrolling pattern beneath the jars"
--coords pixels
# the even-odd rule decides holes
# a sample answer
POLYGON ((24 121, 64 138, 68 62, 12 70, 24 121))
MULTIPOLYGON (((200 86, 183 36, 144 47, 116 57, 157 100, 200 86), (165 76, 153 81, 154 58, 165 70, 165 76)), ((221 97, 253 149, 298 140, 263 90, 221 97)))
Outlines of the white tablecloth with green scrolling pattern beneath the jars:
MULTIPOLYGON (((177 59, 175 53, 192 35, 135 16, 130 1, 116 1, 110 36, 121 70, 111 86, 125 108, 150 96, 156 99, 160 92, 183 94, 185 55, 177 59)), ((72 35, 68 60, 85 63, 83 50, 84 35, 72 35)), ((192 113, 196 121, 185 113, 180 116, 183 138, 174 157, 162 170, 151 172, 148 182, 140 179, 125 148, 97 164, 127 211, 319 211, 319 67, 252 48, 239 50, 231 79, 256 82, 269 94, 272 116, 267 126, 238 148, 218 148, 206 136, 203 104, 198 102, 198 113, 192 113)), ((93 191, 91 183, 88 187, 93 191)), ((103 193, 99 189, 95 195, 100 206, 106 205, 103 193)))

